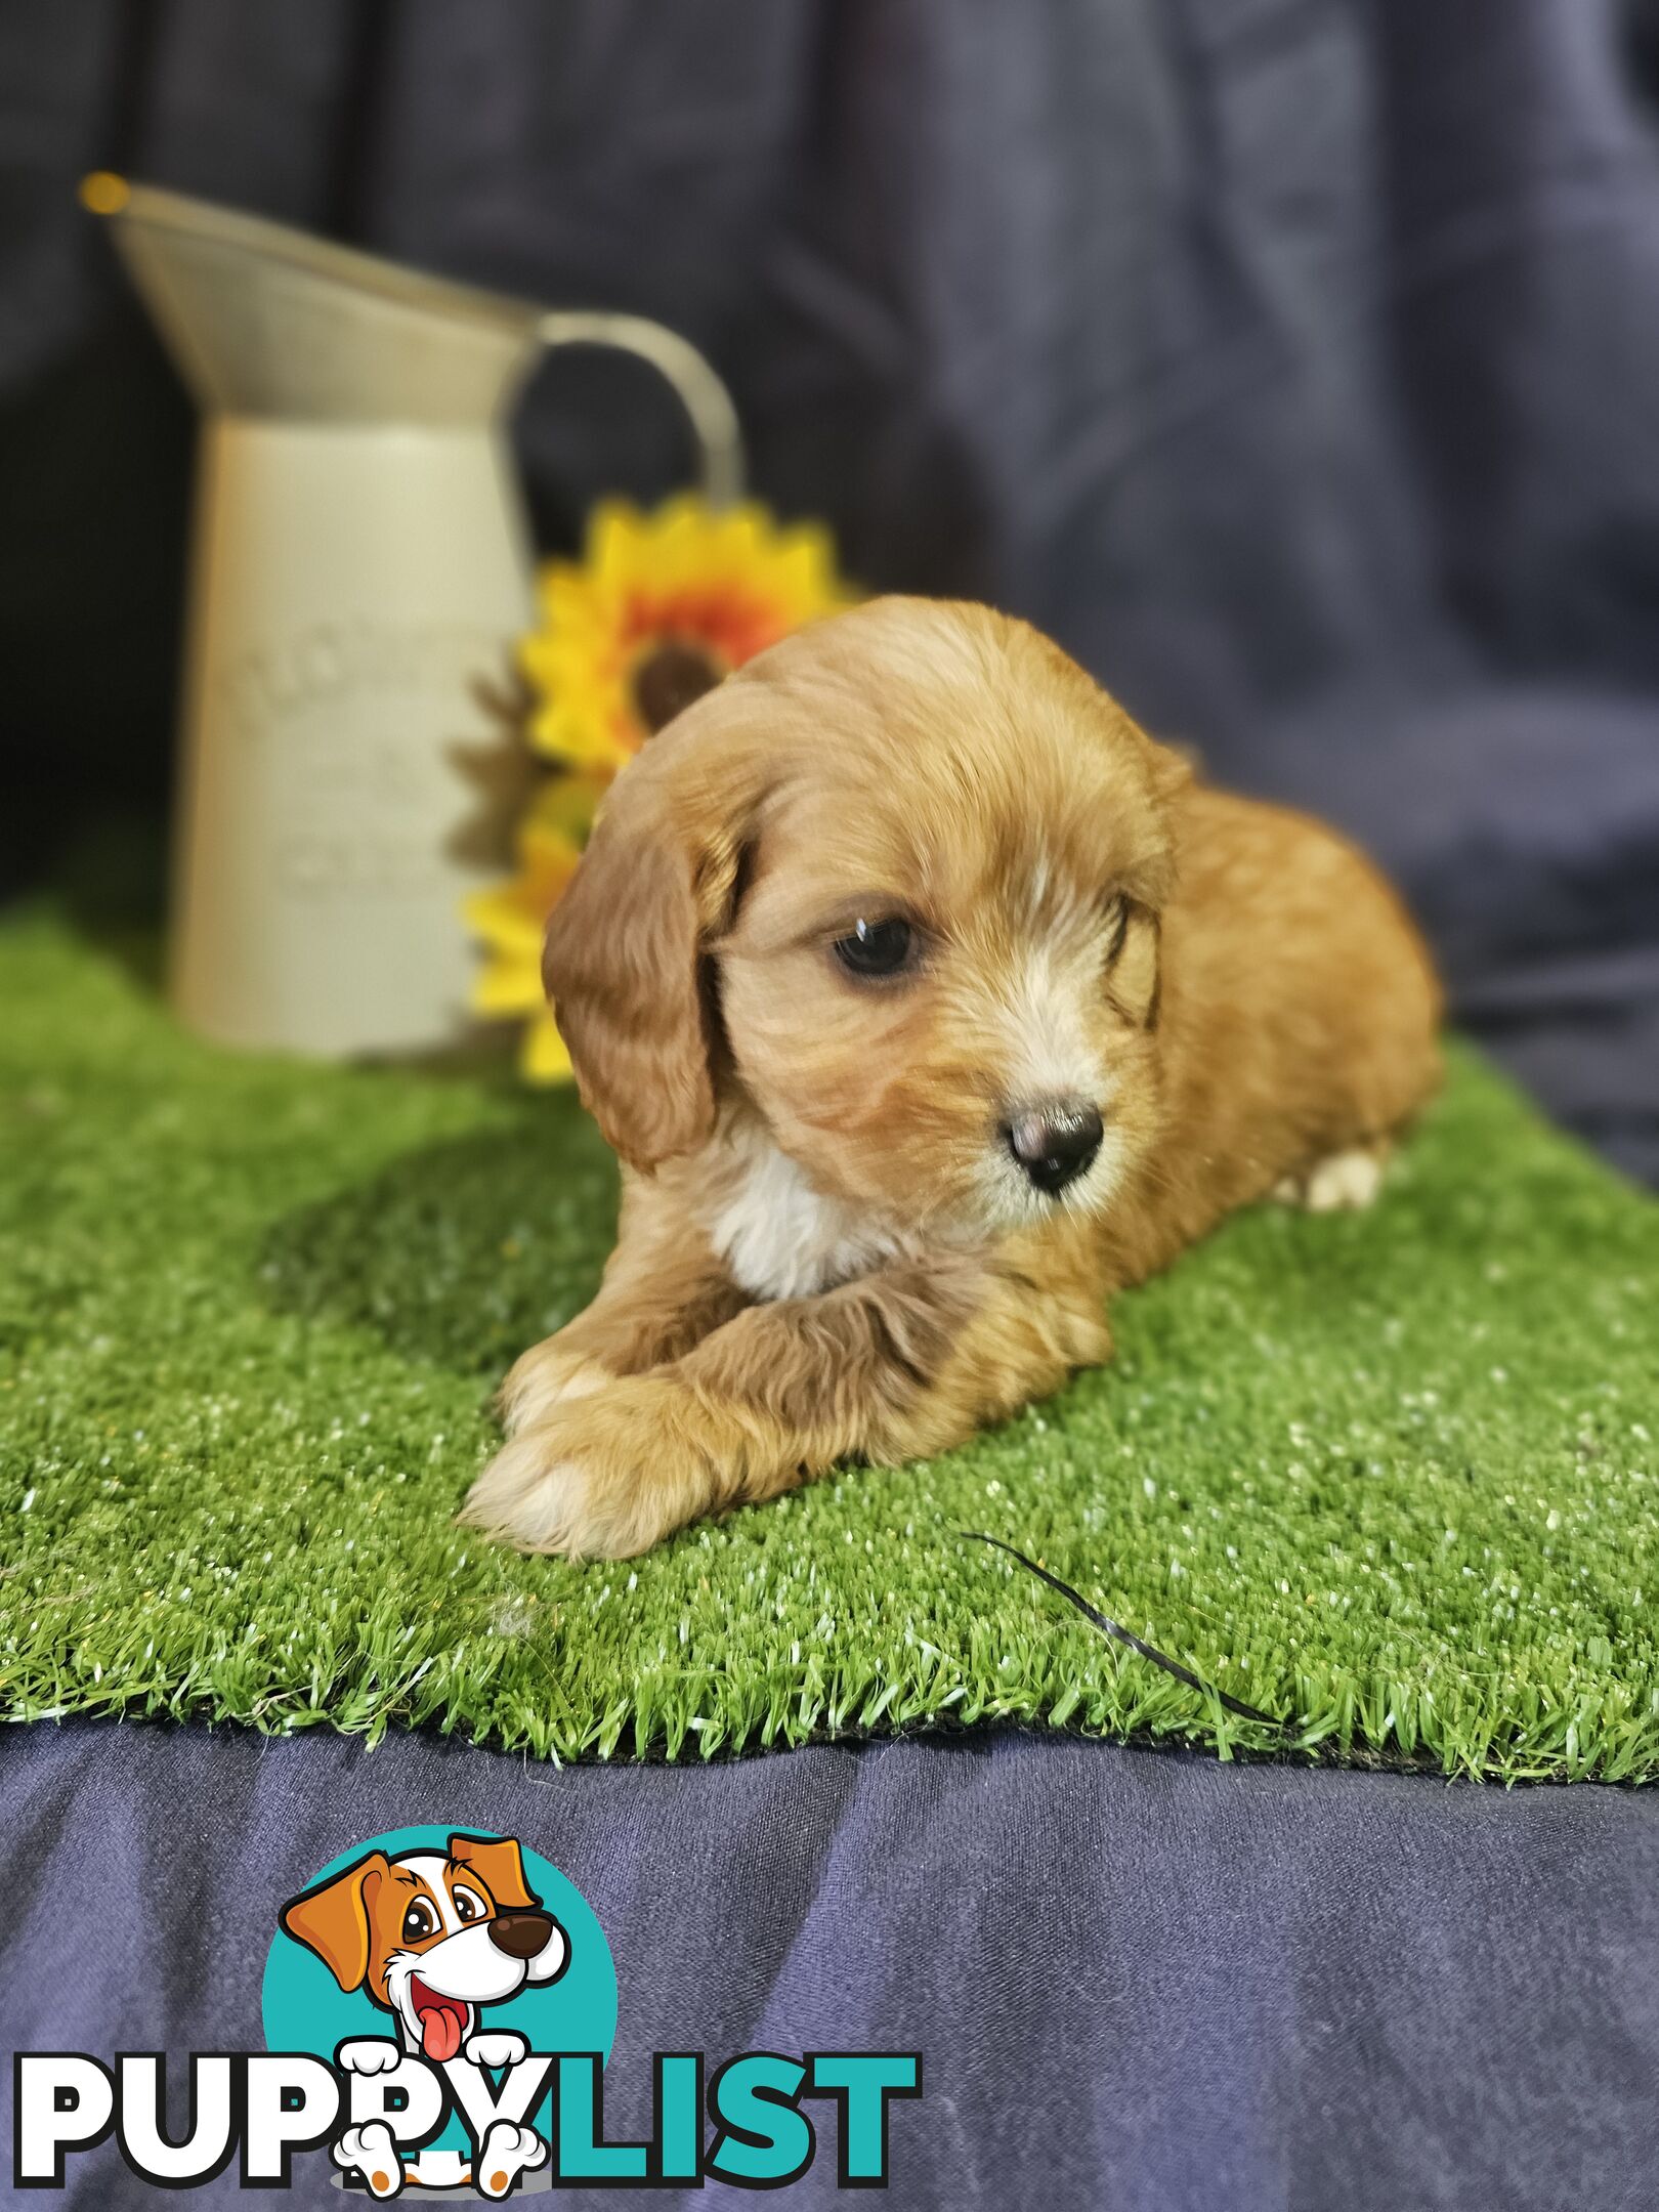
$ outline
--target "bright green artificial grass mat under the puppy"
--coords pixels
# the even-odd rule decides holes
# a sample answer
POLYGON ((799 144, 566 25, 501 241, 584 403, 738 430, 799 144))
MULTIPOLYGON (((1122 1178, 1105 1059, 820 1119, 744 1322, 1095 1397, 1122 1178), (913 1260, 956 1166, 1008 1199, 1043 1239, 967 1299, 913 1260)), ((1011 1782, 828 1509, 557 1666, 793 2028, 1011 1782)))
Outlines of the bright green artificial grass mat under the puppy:
POLYGON ((1018 1719, 1659 1774, 1659 1208, 1471 1053, 1369 1214, 1261 1208, 969 1449, 626 1564, 451 1526, 611 1159, 500 1068, 232 1057, 0 929, 0 1710, 710 1756, 1018 1719), (1040 1557, 1225 1714, 958 1531, 1040 1557))

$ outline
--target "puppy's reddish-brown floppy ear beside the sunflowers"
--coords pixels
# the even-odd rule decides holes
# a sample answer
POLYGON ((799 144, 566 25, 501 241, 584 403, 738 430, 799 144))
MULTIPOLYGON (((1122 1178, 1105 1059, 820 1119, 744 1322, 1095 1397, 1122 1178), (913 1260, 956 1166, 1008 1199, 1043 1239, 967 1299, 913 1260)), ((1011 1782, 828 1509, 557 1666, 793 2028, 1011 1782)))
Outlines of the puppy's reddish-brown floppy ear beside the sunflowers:
POLYGON ((721 748, 728 686, 617 776, 546 927, 542 982, 582 1104, 646 1172, 714 1128, 703 947, 730 920, 748 807, 743 748, 721 748))

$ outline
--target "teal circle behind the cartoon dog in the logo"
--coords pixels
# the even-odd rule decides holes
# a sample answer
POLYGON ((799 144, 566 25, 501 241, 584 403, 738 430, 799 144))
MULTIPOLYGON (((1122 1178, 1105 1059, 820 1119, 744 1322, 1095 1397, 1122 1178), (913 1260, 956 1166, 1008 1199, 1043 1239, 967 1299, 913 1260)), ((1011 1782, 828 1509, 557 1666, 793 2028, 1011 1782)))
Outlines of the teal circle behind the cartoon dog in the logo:
MULTIPOLYGON (((495 1832, 458 1829, 453 1825, 436 1827, 431 1823, 425 1827, 394 1827, 385 1836, 365 1836, 349 1851, 330 1858, 301 1887, 314 1889, 332 1874, 341 1874, 345 1867, 354 1867, 358 1858, 367 1858, 369 1851, 385 1851, 387 1858, 398 1858, 400 1851, 447 1851, 449 1838, 456 1834, 493 1836, 495 1832)), ((608 2064, 611 2044, 617 2033, 617 1969, 611 1960, 611 1944, 593 1907, 575 1882, 566 1874, 560 1874, 551 1858, 542 1858, 526 1843, 520 1843, 520 1851, 524 1854, 524 1880, 564 1929, 564 1940, 571 1944, 571 1962, 557 1982, 540 1989, 526 1982, 504 2004, 482 2006, 478 2026, 484 2031, 515 2028, 531 2051, 597 2051, 602 2062, 608 2064)), ((272 1905, 272 1924, 276 1909, 285 1902, 288 1898, 279 1898, 272 1905)), ((330 2064, 336 2044, 343 2044, 347 2037, 378 2035, 394 2039, 398 2033, 392 2013, 374 2004, 361 1989, 341 1989, 323 1960, 314 1951, 307 1951, 303 1942, 285 1936, 281 1927, 274 1927, 272 1933, 259 2004, 268 2051, 307 2051, 319 2059, 330 2059, 330 2064)), ((529 2115, 529 2121, 546 2135, 546 2097, 529 2115)), ((449 2117, 438 2143, 458 2150, 467 2148, 467 2130, 460 2126, 460 2119, 449 2117)))

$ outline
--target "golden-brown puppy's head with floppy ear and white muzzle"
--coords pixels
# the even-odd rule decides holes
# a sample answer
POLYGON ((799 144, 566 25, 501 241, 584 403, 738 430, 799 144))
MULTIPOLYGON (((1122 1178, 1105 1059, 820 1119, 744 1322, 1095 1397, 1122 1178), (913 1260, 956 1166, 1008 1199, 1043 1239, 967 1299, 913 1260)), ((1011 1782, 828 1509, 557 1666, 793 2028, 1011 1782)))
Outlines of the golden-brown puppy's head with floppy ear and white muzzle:
POLYGON ((644 1170, 730 1102, 902 1225, 1106 1203, 1155 1115, 1183 781, 1022 622, 796 633, 619 776, 553 911, 582 1097, 644 1170))

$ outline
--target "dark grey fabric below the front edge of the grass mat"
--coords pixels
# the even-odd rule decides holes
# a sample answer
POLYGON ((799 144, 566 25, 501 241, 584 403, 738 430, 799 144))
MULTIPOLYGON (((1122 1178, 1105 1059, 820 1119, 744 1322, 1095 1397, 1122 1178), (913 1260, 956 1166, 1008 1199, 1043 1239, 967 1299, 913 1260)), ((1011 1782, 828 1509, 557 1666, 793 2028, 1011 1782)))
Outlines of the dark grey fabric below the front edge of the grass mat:
MULTIPOLYGON (((991 1730, 560 1774, 422 1736, 75 1723, 0 1761, 0 2046, 261 2048, 276 1905, 365 1836, 451 1820, 531 1843, 597 1911, 624 2141, 653 2051, 891 2048, 922 2053, 925 2090, 894 2108, 898 2212, 1655 2201, 1652 1792, 991 1730)), ((164 2201, 111 2146, 71 2179, 75 2212, 164 2201)), ((858 2201, 832 2181, 827 2146, 779 2203, 858 2201)), ((177 2201, 248 2203, 230 2181, 177 2201)), ((338 2203, 316 2161, 294 2201, 338 2203)))

